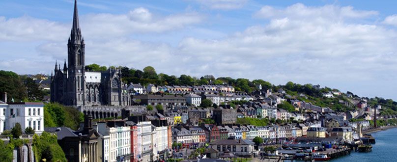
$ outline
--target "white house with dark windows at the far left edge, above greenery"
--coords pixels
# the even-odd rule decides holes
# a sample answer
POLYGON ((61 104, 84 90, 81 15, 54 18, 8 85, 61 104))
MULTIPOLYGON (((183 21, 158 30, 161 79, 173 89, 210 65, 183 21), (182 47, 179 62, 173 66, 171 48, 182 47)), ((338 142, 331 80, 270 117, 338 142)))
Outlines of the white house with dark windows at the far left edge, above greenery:
POLYGON ((36 134, 41 134, 44 131, 44 104, 0 102, 0 133, 11 130, 16 123, 21 124, 22 132, 31 127, 36 134))

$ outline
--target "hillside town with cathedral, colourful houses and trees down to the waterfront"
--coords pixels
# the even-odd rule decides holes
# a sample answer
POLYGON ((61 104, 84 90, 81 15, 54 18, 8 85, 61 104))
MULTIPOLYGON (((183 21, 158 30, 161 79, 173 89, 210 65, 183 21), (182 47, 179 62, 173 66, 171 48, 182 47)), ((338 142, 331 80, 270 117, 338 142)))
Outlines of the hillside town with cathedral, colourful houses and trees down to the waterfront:
POLYGON ((370 133, 397 124, 396 102, 320 85, 85 65, 76 1, 67 51, 19 81, 25 98, 1 71, 15 81, 0 84, 4 161, 326 161, 370 152, 370 133))

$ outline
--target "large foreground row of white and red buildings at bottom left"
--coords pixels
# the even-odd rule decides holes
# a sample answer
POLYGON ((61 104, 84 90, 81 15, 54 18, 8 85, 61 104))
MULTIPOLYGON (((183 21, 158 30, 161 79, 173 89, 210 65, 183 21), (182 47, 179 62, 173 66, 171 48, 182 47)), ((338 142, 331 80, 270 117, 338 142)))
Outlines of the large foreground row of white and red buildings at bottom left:
POLYGON ((68 162, 153 162, 164 160, 172 146, 171 127, 166 120, 129 116, 124 120, 93 123, 86 115, 77 131, 46 127, 57 135, 68 162))

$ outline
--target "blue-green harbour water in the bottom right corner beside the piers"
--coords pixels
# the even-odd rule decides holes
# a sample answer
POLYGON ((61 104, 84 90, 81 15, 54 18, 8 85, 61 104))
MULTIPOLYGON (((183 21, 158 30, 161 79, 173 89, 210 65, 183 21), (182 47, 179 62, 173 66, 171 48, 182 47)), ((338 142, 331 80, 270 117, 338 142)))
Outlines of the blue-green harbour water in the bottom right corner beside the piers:
POLYGON ((351 152, 330 162, 397 162, 397 128, 371 134, 376 141, 372 152, 351 152))

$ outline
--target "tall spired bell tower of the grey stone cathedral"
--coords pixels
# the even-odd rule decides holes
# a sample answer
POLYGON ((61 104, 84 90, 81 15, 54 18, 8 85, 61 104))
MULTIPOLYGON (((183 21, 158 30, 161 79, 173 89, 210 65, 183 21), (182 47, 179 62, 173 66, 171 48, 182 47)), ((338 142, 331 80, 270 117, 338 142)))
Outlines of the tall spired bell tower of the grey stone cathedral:
POLYGON ((68 48, 68 89, 66 105, 84 105, 85 91, 85 43, 79 26, 77 1, 74 3, 73 25, 67 43, 68 48))

